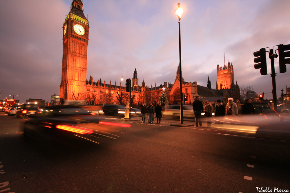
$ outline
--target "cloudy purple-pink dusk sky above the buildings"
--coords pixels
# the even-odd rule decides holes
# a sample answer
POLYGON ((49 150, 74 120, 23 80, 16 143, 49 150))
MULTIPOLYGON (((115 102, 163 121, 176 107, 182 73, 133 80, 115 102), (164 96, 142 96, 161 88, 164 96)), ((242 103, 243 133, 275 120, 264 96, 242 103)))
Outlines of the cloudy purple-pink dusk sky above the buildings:
MULTIPOLYGON (((50 102, 59 94, 63 23, 72 0, 0 0, 0 99, 14 95, 20 103, 50 102), (18 95, 18 97, 16 97, 18 95)), ((254 69, 253 52, 290 44, 289 0, 83 0, 89 21, 87 79, 120 84, 133 78, 139 86, 173 83, 179 62, 177 3, 182 76, 215 89, 217 65, 232 63, 238 85, 272 92, 271 75, 254 69), (225 62, 224 62, 225 61, 225 62)), ((277 51, 278 54, 278 51, 277 51)), ((290 65, 275 72, 278 97, 290 87, 290 65)), ((268 73, 271 62, 267 53, 268 73)), ((124 83, 123 83, 124 85, 124 83)), ((272 94, 265 94, 271 99, 272 94)))

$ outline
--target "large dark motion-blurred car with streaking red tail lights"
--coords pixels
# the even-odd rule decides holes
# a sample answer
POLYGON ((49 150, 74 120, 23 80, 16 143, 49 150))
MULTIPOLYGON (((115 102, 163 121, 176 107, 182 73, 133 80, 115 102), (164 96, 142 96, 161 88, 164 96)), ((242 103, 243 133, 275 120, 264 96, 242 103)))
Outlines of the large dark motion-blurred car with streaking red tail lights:
POLYGON ((104 122, 75 106, 53 106, 23 123, 24 139, 37 139, 48 147, 87 147, 104 139, 117 139, 120 127, 129 124, 104 122), (61 146, 58 146, 61 145, 61 146), (88 146, 86 146, 88 145, 88 146))

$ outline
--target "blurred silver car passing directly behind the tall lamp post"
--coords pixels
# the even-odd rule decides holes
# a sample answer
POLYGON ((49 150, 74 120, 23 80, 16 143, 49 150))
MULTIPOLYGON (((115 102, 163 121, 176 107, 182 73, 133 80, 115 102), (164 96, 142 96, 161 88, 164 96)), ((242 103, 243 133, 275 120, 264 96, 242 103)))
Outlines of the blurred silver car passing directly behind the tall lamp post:
MULTIPOLYGON (((183 105, 183 117, 184 118, 195 118, 193 108, 191 105, 183 105)), ((168 105, 168 109, 161 111, 162 116, 164 117, 180 117, 180 104, 171 104, 168 105)))

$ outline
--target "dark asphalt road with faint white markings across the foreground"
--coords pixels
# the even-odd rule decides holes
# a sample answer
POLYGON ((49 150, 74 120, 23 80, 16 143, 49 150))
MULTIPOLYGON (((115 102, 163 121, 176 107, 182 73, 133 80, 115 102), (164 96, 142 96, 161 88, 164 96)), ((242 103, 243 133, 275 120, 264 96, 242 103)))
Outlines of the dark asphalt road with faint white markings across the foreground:
POLYGON ((162 118, 126 122, 95 148, 48 151, 23 140, 22 121, 0 113, 0 192, 290 191, 289 141, 162 118))

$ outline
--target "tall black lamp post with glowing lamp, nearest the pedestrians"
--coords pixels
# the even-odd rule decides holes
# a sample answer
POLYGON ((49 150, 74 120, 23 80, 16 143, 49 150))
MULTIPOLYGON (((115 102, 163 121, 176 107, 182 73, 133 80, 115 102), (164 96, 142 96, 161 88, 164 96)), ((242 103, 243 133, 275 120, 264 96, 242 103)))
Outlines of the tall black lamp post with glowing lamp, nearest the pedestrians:
POLYGON ((183 13, 183 8, 180 7, 180 3, 177 3, 178 7, 175 10, 175 14, 178 16, 178 27, 179 27, 179 71, 180 71, 180 124, 183 124, 183 105, 182 105, 182 73, 181 73, 181 43, 180 43, 180 19, 183 13))

